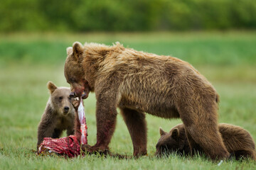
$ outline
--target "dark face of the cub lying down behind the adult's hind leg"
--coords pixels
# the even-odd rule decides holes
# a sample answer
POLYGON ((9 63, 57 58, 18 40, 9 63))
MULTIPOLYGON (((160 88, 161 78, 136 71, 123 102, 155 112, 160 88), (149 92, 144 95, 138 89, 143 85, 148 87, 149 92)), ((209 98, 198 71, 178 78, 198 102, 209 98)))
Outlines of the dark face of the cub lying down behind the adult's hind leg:
POLYGON ((176 152, 179 149, 178 128, 172 129, 170 132, 164 132, 160 128, 160 139, 156 144, 155 155, 161 157, 169 155, 171 152, 176 152))

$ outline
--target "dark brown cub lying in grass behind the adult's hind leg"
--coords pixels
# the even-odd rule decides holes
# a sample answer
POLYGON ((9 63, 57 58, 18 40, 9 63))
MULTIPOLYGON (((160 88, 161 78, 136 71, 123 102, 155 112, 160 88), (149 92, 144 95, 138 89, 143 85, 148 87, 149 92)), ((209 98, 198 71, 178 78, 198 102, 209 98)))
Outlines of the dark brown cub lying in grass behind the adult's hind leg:
MULTIPOLYGON (((247 157, 256 160, 255 142, 247 130, 226 123, 220 123, 218 129, 225 147, 235 159, 247 157)), ((164 132, 160 128, 160 135, 156 144, 156 156, 169 155, 171 152, 181 155, 191 154, 183 124, 176 125, 170 132, 164 132)), ((195 152, 201 154, 202 150, 197 148, 195 152)))

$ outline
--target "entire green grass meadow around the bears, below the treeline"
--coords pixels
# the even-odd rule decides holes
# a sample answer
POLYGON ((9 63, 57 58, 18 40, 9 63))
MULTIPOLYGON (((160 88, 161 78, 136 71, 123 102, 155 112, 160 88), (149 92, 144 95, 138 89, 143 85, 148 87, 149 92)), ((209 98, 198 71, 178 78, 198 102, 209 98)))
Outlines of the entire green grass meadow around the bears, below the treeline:
MULTIPOLYGON (((156 159, 159 126, 171 129, 181 120, 146 115, 148 156, 139 159, 86 156, 64 159, 38 157, 37 125, 48 100, 47 81, 68 86, 63 75, 65 48, 80 42, 119 40, 136 50, 174 55, 191 62, 220 94, 219 122, 240 125, 256 140, 256 34, 252 33, 134 33, 58 35, 12 34, 0 39, 0 169, 255 169, 252 161, 218 163, 204 157, 176 155, 156 159)), ((85 100, 88 142, 96 142, 95 96, 85 100)), ((65 135, 65 134, 64 134, 65 135)), ((63 136, 64 136, 63 135, 63 136)), ((132 140, 120 115, 110 149, 132 155, 132 140)))

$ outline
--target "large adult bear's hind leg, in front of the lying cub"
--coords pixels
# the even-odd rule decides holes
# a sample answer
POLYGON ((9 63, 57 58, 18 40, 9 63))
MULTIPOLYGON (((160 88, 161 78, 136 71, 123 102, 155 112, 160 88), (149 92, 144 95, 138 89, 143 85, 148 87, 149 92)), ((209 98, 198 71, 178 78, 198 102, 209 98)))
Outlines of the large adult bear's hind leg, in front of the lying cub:
POLYGON ((183 101, 178 108, 188 134, 191 147, 198 144, 210 159, 227 159, 227 151, 218 130, 218 106, 209 99, 200 101, 183 101))

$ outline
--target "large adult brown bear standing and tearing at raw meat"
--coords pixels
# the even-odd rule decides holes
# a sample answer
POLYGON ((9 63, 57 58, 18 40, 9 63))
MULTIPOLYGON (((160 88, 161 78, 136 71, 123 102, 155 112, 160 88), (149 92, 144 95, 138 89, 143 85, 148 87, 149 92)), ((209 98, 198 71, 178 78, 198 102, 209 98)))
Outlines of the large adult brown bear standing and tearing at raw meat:
POLYGON ((188 62, 125 48, 75 42, 67 48, 65 78, 72 97, 97 99, 97 142, 89 152, 108 149, 120 109, 132 137, 134 156, 146 154, 145 114, 181 118, 191 148, 211 159, 230 155, 218 132, 219 96, 188 62))

